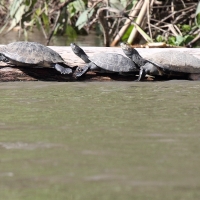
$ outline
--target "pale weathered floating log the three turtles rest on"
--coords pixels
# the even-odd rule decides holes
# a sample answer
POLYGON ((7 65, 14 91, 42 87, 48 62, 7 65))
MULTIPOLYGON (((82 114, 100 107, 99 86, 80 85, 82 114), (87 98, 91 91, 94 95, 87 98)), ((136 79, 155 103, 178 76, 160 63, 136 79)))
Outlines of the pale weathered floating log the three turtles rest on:
MULTIPOLYGON (((53 50, 58 52, 63 59, 70 66, 84 66, 84 62, 77 57, 71 50, 70 47, 56 47, 51 46, 53 50)), ((85 52, 91 56, 99 52, 113 52, 123 54, 123 51, 119 47, 83 47, 85 52)), ((168 48, 169 49, 169 48, 168 48)), ((137 49, 141 55, 145 53, 154 53, 163 51, 164 48, 140 48, 137 49)), ((176 48, 175 51, 186 51, 200 59, 200 49, 188 49, 188 48, 176 48)), ((6 63, 0 62, 0 81, 112 81, 112 80, 135 80, 136 76, 121 76, 118 74, 96 74, 94 72, 87 73, 84 77, 76 80, 70 75, 62 75, 55 69, 51 68, 23 68, 23 67, 12 67, 6 63)), ((162 77, 160 77, 162 78, 162 77)), ((150 79, 151 80, 151 79, 150 79)))

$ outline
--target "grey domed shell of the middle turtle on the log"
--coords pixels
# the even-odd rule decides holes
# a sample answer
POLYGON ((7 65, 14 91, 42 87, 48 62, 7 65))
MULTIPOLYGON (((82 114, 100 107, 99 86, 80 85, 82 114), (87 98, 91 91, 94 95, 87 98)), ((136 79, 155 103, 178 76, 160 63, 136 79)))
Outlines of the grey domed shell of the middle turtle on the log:
POLYGON ((138 71, 131 59, 117 53, 98 53, 89 59, 98 67, 112 72, 138 71))

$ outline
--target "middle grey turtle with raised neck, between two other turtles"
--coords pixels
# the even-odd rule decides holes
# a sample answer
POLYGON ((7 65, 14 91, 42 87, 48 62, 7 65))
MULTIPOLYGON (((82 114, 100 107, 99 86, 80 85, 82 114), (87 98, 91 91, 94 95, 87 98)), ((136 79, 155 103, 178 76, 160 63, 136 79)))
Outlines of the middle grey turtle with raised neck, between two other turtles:
POLYGON ((128 74, 131 72, 138 72, 139 68, 135 63, 117 53, 98 53, 92 57, 88 57, 86 53, 75 43, 71 43, 72 51, 79 56, 85 63, 84 67, 77 67, 74 76, 80 77, 87 71, 103 72, 103 73, 122 73, 128 74))

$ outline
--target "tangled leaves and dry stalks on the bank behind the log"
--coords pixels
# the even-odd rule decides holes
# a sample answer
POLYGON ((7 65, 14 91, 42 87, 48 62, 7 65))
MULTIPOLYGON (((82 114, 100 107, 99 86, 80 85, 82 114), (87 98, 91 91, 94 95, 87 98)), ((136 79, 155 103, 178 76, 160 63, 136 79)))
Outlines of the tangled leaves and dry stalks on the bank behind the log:
POLYGON ((76 37, 96 30, 106 46, 119 41, 198 46, 198 0, 7 0, 0 1, 0 33, 14 27, 27 37, 33 27, 49 43, 53 35, 76 37), (137 33, 140 33, 139 35, 137 33))

